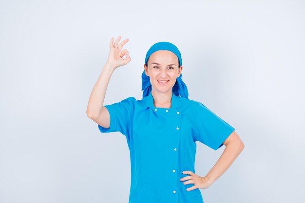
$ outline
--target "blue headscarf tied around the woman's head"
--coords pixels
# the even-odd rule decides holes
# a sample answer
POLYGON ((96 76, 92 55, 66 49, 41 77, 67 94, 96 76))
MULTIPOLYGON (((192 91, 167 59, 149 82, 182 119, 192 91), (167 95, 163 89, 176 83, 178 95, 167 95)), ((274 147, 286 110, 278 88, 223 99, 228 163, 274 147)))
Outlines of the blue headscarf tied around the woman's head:
MULTIPOLYGON (((159 50, 168 50, 177 55, 180 66, 182 65, 182 58, 181 53, 179 52, 178 48, 170 42, 161 41, 157 42, 148 50, 146 57, 145 57, 145 64, 152 53, 159 51, 159 50)), ((143 98, 148 96, 150 92, 152 92, 152 84, 150 81, 150 77, 145 74, 145 70, 142 73, 142 90, 143 91, 143 98)), ((174 86, 172 87, 172 92, 176 95, 184 98, 189 98, 189 92, 186 84, 182 81, 182 74, 177 77, 174 86)))

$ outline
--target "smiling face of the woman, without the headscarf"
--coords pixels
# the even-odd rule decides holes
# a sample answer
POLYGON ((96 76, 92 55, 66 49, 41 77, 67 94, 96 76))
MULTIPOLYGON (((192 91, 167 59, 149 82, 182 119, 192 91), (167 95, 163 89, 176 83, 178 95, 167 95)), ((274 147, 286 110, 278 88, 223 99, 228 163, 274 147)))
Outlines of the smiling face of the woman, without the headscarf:
POLYGON ((152 89, 157 92, 172 92, 182 71, 182 66, 178 69, 178 61, 178 57, 168 50, 159 50, 150 55, 148 67, 144 64, 144 69, 145 74, 150 77, 152 89))

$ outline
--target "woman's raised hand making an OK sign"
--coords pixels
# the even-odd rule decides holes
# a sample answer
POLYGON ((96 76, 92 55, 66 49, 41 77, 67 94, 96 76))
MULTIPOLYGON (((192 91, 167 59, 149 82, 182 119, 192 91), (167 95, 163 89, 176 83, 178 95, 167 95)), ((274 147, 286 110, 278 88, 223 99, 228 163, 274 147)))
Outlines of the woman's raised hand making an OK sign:
POLYGON ((129 39, 125 39, 118 45, 120 39, 121 36, 117 37, 115 42, 114 42, 114 37, 111 37, 110 40, 110 52, 108 55, 107 63, 113 65, 114 69, 123 66, 132 60, 129 56, 128 51, 126 49, 122 50, 123 46, 128 42, 129 39), (124 55, 126 55, 125 59, 123 58, 124 55))

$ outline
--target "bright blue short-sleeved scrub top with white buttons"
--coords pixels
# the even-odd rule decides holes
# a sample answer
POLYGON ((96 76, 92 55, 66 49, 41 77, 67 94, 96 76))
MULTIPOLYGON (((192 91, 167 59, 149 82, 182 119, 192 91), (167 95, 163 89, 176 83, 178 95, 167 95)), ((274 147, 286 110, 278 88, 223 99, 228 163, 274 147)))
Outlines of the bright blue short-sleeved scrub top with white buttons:
MULTIPOLYGON (((199 188, 180 178, 195 173, 196 141, 217 150, 235 130, 202 103, 172 93, 171 108, 154 107, 152 93, 105 105, 110 127, 126 136, 131 160, 129 203, 203 203, 199 188)), ((198 174, 199 175, 199 174, 198 174)))

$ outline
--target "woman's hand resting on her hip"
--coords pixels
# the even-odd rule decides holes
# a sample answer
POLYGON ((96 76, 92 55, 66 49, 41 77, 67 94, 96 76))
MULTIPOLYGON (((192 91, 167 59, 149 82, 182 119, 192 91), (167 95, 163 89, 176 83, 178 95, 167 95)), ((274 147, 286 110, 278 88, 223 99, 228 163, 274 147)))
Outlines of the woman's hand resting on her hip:
POLYGON ((195 173, 191 172, 190 170, 186 170, 182 172, 183 174, 190 174, 189 176, 183 177, 180 179, 180 181, 186 181, 183 182, 184 185, 187 184, 194 184, 193 186, 187 188, 188 191, 196 189, 196 188, 203 188, 206 189, 208 187, 210 187, 210 185, 212 185, 210 179, 206 176, 201 177, 196 175, 195 173))

